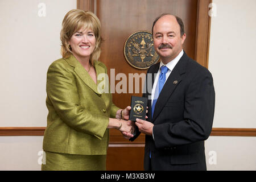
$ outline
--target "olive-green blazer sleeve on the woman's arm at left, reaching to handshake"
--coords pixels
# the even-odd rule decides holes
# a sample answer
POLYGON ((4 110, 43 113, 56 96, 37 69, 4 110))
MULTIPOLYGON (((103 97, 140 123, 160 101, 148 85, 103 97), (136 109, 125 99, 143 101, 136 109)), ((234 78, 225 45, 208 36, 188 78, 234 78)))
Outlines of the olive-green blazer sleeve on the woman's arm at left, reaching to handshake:
POLYGON ((53 63, 47 72, 47 96, 61 120, 77 131, 104 136, 109 117, 93 114, 80 105, 76 80, 64 63, 53 63))

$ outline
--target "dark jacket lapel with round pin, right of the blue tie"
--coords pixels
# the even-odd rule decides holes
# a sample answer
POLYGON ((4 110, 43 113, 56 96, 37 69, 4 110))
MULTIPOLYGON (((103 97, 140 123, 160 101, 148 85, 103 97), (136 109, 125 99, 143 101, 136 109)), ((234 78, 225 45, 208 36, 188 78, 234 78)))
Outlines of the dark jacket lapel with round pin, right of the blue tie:
POLYGON ((168 98, 171 96, 171 94, 174 92, 174 90, 182 81, 181 75, 185 73, 186 64, 187 64, 187 55, 184 52, 183 56, 180 58, 179 62, 176 64, 170 76, 166 80, 166 83, 164 84, 162 91, 160 92, 158 100, 156 101, 156 104, 155 104, 153 121, 155 121, 155 118, 158 117, 160 112, 163 110, 164 105, 166 105, 168 98))

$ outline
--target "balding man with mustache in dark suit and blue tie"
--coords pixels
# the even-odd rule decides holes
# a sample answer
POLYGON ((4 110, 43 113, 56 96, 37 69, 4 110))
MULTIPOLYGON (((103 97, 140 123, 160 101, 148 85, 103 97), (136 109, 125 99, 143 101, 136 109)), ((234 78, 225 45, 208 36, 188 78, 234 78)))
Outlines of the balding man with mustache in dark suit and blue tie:
POLYGON ((149 75, 153 82, 143 94, 148 119, 137 119, 139 131, 130 140, 146 134, 145 170, 206 170, 204 140, 212 130, 215 102, 212 75, 183 51, 186 34, 179 17, 156 18, 152 36, 161 61, 147 71, 146 88, 149 75))

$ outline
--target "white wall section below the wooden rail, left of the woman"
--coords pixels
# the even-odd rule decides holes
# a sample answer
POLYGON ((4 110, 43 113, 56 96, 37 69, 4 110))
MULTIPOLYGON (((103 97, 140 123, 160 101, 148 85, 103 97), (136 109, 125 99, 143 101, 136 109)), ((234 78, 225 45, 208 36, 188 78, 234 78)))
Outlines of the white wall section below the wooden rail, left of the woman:
POLYGON ((43 137, 0 137, 0 171, 41 170, 43 137))

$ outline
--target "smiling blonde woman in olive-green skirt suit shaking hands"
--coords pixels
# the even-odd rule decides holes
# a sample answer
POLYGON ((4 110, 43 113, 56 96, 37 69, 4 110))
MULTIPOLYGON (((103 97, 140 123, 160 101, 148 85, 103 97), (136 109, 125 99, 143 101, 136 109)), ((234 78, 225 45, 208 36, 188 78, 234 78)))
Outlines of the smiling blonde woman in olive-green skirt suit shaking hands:
POLYGON ((112 103, 106 66, 100 57, 100 20, 71 10, 62 24, 61 55, 47 72, 42 170, 105 170, 109 128, 133 137, 130 106, 112 103))

